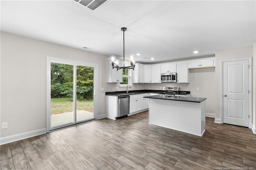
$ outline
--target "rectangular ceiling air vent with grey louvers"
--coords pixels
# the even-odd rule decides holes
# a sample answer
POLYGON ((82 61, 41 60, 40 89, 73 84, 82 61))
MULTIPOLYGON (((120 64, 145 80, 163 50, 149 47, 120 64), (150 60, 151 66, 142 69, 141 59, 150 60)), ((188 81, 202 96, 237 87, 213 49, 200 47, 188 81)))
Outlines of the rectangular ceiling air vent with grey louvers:
POLYGON ((72 0, 76 4, 79 4, 88 10, 95 12, 98 10, 101 6, 109 2, 110 0, 72 0))

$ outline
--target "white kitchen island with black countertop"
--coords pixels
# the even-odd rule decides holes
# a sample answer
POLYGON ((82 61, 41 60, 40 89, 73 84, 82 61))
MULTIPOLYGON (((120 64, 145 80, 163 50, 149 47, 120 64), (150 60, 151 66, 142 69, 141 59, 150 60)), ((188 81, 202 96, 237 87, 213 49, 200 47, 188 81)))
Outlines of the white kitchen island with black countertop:
POLYGON ((201 97, 154 95, 149 98, 149 123, 202 136, 205 126, 205 100, 201 97))

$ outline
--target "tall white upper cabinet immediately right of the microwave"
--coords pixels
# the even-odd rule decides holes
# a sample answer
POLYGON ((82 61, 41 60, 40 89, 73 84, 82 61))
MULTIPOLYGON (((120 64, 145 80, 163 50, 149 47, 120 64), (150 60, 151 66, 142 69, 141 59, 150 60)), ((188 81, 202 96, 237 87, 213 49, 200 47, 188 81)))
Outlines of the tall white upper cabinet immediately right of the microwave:
POLYGON ((177 63, 177 83, 189 83, 187 61, 177 63))

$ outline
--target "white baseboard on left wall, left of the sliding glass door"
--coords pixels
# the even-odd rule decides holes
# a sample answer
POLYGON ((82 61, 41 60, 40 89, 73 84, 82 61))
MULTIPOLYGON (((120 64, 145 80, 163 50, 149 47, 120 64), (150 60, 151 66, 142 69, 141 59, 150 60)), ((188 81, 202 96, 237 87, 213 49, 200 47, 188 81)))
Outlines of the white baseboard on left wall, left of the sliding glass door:
POLYGON ((38 130, 32 130, 32 131, 29 131, 29 132, 14 134, 14 135, 11 135, 11 136, 6 136, 6 137, 3 137, 3 138, 0 138, 0 145, 10 143, 10 142, 15 142, 17 140, 30 138, 30 137, 33 137, 33 136, 38 136, 40 134, 45 134, 45 133, 46 133, 46 128, 41 128, 41 129, 38 129, 38 130))

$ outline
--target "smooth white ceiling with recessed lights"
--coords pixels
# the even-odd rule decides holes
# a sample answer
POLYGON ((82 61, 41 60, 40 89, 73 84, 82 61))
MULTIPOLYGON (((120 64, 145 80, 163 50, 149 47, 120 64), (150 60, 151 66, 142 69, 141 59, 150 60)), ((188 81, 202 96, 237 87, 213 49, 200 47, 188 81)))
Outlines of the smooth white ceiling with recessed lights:
POLYGON ((91 12, 71 0, 1 0, 1 31, 106 56, 123 56, 122 27, 126 59, 209 56, 256 42, 256 1, 110 0, 91 12))

